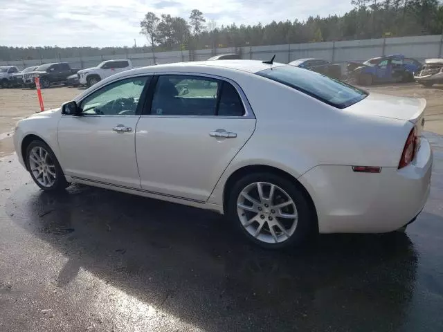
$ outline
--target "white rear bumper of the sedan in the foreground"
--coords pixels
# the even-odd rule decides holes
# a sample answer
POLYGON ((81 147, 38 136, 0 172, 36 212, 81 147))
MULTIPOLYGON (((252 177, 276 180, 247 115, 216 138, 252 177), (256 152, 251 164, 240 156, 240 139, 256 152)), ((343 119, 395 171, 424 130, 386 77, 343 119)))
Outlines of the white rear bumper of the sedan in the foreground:
POLYGON ((413 163, 383 167, 379 174, 350 166, 320 165, 299 178, 316 205, 320 233, 397 230, 422 211, 431 187, 433 156, 428 140, 413 163))

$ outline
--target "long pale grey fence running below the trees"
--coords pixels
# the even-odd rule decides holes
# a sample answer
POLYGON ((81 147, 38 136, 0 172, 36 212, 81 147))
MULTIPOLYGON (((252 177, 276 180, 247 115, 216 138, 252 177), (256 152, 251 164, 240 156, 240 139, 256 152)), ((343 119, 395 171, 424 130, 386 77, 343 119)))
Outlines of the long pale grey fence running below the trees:
POLYGON ((131 59, 134 66, 148 66, 159 63, 186 62, 206 60, 208 57, 224 53, 238 53, 243 59, 268 60, 275 55, 276 62, 291 62, 303 57, 315 57, 332 62, 363 61, 370 57, 390 54, 403 54, 418 60, 429 57, 442 57, 443 35, 415 37, 396 37, 381 39, 363 39, 341 42, 324 42, 309 44, 287 44, 270 46, 244 46, 237 48, 216 48, 206 50, 183 50, 156 53, 134 53, 125 55, 102 55, 96 57, 72 57, 53 59, 17 60, 0 62, 0 66, 15 65, 20 68, 48 64, 51 62, 69 62, 72 68, 96 66, 108 59, 131 59))

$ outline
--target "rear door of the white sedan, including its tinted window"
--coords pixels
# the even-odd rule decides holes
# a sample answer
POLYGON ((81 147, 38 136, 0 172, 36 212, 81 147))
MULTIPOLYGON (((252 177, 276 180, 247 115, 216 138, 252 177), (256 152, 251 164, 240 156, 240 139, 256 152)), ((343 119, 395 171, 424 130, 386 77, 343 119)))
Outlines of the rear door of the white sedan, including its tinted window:
POLYGON ((159 75, 136 129, 143 190, 206 201, 255 117, 235 82, 206 75, 159 75))

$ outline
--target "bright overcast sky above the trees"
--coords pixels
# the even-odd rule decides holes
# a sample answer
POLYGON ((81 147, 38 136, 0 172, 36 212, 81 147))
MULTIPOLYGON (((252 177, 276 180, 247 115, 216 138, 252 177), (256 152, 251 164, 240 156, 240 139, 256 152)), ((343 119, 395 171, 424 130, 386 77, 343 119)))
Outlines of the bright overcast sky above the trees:
POLYGON ((349 0, 0 0, 0 45, 132 46, 146 12, 188 20, 192 9, 221 24, 267 24, 341 15, 349 0))

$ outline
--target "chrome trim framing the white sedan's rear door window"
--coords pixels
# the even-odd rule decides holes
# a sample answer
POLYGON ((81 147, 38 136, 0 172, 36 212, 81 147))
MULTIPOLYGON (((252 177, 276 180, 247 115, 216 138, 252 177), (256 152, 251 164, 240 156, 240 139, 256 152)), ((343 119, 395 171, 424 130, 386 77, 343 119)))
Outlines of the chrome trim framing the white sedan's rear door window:
POLYGON ((197 76, 197 77, 208 77, 213 80, 221 80, 230 83, 234 86, 234 89, 239 94, 240 100, 242 100, 244 115, 243 116, 161 116, 159 114, 142 114, 143 118, 216 118, 216 119, 255 119, 255 114, 252 110, 251 104, 249 104, 248 98, 244 94, 242 88, 237 84, 237 82, 231 80, 228 77, 223 77, 219 75, 206 74, 206 73, 190 73, 188 71, 159 71, 155 72, 156 76, 164 76, 164 75, 186 75, 186 76, 197 76))

